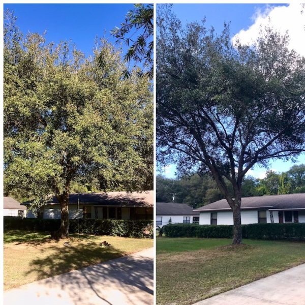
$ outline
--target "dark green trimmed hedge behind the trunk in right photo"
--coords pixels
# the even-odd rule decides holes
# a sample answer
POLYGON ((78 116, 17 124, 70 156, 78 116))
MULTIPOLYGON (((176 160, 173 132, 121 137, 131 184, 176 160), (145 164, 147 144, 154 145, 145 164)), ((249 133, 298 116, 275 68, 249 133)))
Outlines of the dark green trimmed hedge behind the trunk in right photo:
MULTIPOLYGON (((250 224, 241 229, 243 238, 305 240, 305 224, 250 224)), ((168 237, 233 238, 233 226, 170 224, 163 226, 163 233, 168 237)))

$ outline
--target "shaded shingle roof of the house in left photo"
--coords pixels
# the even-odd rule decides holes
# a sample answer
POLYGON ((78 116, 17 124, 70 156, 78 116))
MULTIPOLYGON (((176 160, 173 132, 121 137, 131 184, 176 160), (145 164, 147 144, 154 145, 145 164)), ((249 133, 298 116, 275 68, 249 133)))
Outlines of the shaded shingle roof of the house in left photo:
MULTIPOLYGON (((95 204, 95 205, 113 205, 113 206, 153 206, 154 192, 146 191, 142 193, 133 192, 100 192, 100 193, 81 193, 71 194, 69 196, 69 203, 77 203, 79 199, 80 204, 95 204)), ((55 196, 52 197, 50 203, 58 203, 55 196)), ((25 202, 24 204, 29 204, 25 202)))

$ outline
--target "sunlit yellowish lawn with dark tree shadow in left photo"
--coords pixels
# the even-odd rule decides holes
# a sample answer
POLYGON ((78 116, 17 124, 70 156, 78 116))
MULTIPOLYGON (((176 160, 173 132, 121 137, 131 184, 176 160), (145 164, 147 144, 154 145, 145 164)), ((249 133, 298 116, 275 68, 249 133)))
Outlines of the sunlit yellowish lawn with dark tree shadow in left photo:
POLYGON ((43 232, 4 233, 4 289, 59 275, 153 247, 153 239, 72 234, 59 241, 43 232), (111 247, 102 248, 106 240, 111 247), (71 247, 64 245, 69 241, 71 247))

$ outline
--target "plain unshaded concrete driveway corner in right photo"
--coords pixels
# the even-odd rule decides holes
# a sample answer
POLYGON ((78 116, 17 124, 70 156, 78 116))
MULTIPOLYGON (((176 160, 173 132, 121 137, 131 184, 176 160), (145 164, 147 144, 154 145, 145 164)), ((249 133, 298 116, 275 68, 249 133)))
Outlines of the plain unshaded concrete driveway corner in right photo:
POLYGON ((196 305, 224 304, 304 305, 305 264, 196 303, 196 305))

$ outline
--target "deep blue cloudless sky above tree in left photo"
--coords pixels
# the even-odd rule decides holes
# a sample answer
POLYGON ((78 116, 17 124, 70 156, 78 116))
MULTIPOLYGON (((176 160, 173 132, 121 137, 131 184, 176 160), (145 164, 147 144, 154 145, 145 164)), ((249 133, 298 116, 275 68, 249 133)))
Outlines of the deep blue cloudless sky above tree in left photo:
MULTIPOLYGON (((72 40, 76 47, 92 54, 95 37, 109 38, 110 30, 125 21, 132 4, 5 4, 14 11, 23 33, 47 30, 48 42, 72 40)), ((126 46, 124 46, 126 49, 126 46)))

